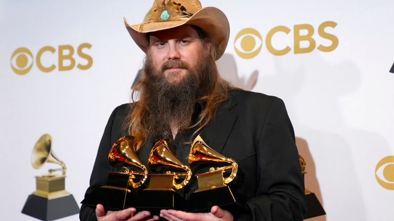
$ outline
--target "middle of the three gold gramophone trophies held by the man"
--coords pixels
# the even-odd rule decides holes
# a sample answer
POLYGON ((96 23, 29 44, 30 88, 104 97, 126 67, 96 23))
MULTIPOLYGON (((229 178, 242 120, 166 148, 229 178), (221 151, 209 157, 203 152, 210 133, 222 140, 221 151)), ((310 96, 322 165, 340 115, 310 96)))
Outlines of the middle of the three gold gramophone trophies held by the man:
POLYGON ((174 189, 188 184, 191 169, 175 157, 169 145, 168 139, 162 139, 153 146, 148 158, 149 187, 136 193, 136 201, 130 202, 130 207, 159 214, 161 209, 180 209, 185 205, 183 197, 174 189))

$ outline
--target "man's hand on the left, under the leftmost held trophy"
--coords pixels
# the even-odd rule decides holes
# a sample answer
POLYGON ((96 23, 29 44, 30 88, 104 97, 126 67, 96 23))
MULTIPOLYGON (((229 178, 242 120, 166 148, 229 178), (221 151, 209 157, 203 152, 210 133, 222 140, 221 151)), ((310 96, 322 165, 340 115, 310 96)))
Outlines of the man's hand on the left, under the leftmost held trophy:
POLYGON ((135 208, 127 208, 120 211, 105 211, 103 205, 96 206, 97 221, 153 221, 158 220, 159 216, 151 216, 149 211, 135 213, 135 208))

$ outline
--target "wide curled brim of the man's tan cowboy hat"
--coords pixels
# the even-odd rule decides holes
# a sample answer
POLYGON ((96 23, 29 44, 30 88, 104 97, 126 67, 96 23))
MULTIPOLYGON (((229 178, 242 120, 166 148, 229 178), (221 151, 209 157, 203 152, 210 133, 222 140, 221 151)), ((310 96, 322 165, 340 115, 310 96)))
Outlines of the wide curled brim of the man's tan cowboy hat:
POLYGON ((215 7, 202 8, 185 20, 130 25, 125 17, 123 17, 123 19, 130 36, 137 46, 145 53, 148 51, 146 33, 171 29, 182 25, 195 25, 208 33, 212 40, 218 43, 218 57, 216 57, 216 59, 219 59, 226 50, 228 38, 230 36, 230 25, 226 15, 215 7))

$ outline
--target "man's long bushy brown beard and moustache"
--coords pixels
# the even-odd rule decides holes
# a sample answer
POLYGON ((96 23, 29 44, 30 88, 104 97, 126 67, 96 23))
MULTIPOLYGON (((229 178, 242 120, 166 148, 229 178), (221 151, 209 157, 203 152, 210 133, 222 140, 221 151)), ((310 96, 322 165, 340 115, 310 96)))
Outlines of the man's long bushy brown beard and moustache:
POLYGON ((210 59, 202 56, 194 67, 181 60, 169 60, 156 69, 147 55, 140 101, 147 110, 144 127, 153 136, 170 129, 170 125, 180 132, 190 127, 197 100, 212 89, 216 66, 212 60, 212 67, 210 59), (169 83, 163 73, 174 66, 185 69, 187 74, 179 82, 169 83))

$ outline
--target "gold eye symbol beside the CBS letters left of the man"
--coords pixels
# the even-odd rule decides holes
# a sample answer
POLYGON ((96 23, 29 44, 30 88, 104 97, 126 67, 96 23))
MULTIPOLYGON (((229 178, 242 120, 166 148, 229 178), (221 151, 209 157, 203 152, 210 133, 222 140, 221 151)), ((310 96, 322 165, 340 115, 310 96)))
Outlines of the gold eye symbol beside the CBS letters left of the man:
POLYGON ((24 75, 33 67, 33 55, 27 48, 18 48, 11 55, 11 68, 18 75, 24 75))

